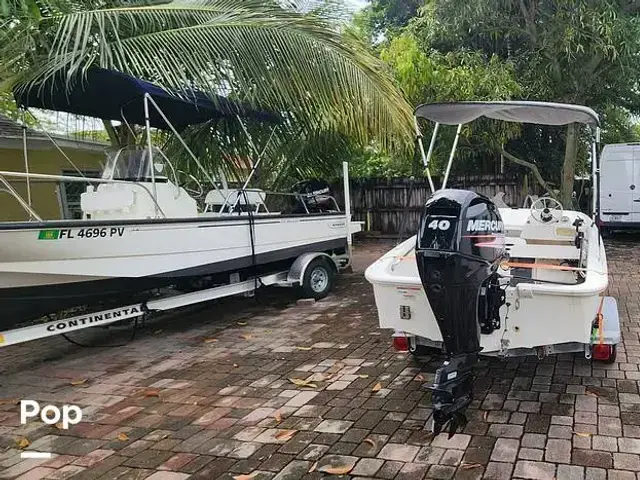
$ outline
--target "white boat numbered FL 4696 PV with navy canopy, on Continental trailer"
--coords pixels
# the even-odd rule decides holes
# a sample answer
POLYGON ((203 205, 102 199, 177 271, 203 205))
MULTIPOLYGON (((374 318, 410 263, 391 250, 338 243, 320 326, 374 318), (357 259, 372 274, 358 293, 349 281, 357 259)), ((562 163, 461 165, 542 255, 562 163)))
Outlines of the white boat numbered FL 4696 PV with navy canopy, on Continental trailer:
POLYGON ((360 229, 348 213, 347 165, 345 211, 327 189, 314 191, 313 182, 284 194, 297 213, 269 211, 269 197, 275 193, 248 187, 261 162, 259 154, 244 184, 229 188, 224 176, 214 179, 202 167, 178 128, 223 116, 238 122, 243 117, 277 122, 277 116, 225 98, 214 103, 197 92, 189 95, 178 97, 99 68, 90 69, 70 91, 53 79, 16 94, 24 109, 144 125, 145 144, 110 153, 101 178, 31 173, 26 147, 25 172, 0 171, 0 184, 29 217, 0 223, 0 347, 262 285, 297 286, 315 298, 329 292, 334 274, 350 263, 351 235, 360 229), (201 206, 179 184, 171 161, 152 146, 152 128, 172 131, 211 180, 213 188, 206 195, 196 180, 204 197, 201 206), (27 199, 11 185, 16 179, 26 182, 27 199), (89 183, 81 196, 83 218, 40 218, 31 207, 32 181, 89 183), (164 287, 183 293, 158 298, 164 287), (64 311, 81 306, 88 306, 88 313, 65 317, 64 311), (54 313, 59 320, 22 326, 54 313))

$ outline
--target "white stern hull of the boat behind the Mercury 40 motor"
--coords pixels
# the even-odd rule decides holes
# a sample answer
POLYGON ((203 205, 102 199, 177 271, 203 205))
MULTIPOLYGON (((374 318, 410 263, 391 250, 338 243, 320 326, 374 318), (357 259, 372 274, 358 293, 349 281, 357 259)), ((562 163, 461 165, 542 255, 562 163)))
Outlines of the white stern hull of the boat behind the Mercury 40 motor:
MULTIPOLYGON (((517 230, 518 226, 505 222, 505 228, 517 230)), ((508 312, 506 305, 500 309, 500 329, 481 335, 484 352, 499 351, 503 339, 509 349, 589 343, 591 322, 596 317, 600 295, 607 288, 608 276, 604 245, 595 227, 588 229, 587 241, 589 271, 584 283, 572 286, 521 283, 507 287, 507 302, 511 306, 508 312)), ((373 286, 381 328, 441 342, 442 335, 415 262, 415 243, 416 238, 412 237, 387 252, 369 266, 365 277, 373 286), (410 319, 400 317, 401 306, 409 306, 410 319)))

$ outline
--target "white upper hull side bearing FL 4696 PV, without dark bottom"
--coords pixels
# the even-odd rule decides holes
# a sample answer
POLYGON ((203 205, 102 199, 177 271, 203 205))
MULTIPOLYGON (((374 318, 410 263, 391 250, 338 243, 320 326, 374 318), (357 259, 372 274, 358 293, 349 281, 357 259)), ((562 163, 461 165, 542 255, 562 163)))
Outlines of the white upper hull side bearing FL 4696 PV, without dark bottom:
MULTIPOLYGON (((255 254, 345 239, 344 216, 254 217, 255 254)), ((172 275, 252 255, 248 220, 153 222, 50 228, 61 238, 39 239, 46 227, 0 230, 0 286, 18 287, 106 278, 172 275), (104 236, 100 235, 106 229, 104 236), (112 233, 112 229, 118 229, 112 233), (87 230, 87 229, 85 229, 87 230), (94 232, 95 231, 95 232, 94 232), (15 283, 14 283, 15 282, 15 283)))

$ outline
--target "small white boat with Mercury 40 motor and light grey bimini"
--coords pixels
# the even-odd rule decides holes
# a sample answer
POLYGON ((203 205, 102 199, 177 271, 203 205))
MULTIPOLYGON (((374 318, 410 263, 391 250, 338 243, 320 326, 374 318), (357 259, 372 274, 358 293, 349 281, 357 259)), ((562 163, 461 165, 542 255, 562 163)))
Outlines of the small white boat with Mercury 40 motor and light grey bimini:
MULTIPOLYGON (((605 247, 596 224, 599 120, 583 106, 546 102, 427 104, 416 117, 458 125, 442 188, 427 200, 417 235, 370 265, 379 324, 394 330, 396 349, 445 352, 436 372, 434 430, 466 422, 471 366, 478 354, 517 356, 584 352, 615 361, 620 324, 606 296, 605 247), (480 117, 592 128, 591 216, 542 197, 531 208, 498 208, 490 199, 446 188, 460 127, 480 117)), ((418 123, 416 120, 416 129, 418 123)), ((431 179, 429 178, 431 181, 431 179)))

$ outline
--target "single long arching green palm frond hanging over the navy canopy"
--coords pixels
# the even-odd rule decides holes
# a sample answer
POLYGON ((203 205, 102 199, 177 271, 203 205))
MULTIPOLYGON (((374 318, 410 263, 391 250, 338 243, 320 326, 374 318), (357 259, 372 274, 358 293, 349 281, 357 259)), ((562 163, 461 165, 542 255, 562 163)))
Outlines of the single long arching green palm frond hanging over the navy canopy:
POLYGON ((43 20, 55 26, 50 53, 22 81, 97 64, 166 87, 229 94, 287 112, 311 130, 389 147, 410 143, 411 107, 384 65, 321 12, 178 0, 55 15, 43 20))

